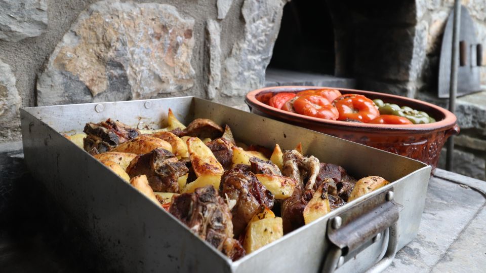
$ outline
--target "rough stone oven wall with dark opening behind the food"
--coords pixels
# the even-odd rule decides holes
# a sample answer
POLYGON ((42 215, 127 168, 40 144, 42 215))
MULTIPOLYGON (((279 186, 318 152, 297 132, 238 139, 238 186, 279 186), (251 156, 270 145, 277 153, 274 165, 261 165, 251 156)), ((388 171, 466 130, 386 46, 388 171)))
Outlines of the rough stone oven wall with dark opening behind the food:
MULTIPOLYGON (((0 143, 20 140, 22 106, 195 95, 245 109, 244 95, 265 85, 357 88, 447 107, 437 73, 453 3, 3 0, 0 143)), ((486 45, 486 2, 462 4, 486 45)), ((486 84, 486 67, 481 74, 486 84)), ((457 111, 455 171, 485 179, 485 93, 459 98, 457 111)))

